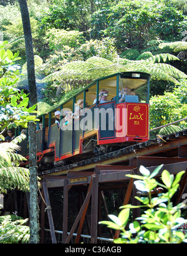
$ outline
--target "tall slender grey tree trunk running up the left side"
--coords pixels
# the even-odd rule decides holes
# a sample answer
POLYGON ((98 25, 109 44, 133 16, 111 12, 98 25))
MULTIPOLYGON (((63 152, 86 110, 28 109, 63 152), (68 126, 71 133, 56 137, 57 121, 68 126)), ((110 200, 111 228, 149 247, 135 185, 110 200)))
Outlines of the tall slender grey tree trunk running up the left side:
MULTIPOLYGON (((26 44, 27 75, 29 83, 29 105, 37 103, 34 52, 31 24, 26 0, 19 0, 26 44)), ((36 124, 29 123, 29 170, 30 170, 30 243, 39 243, 39 207, 37 195, 36 124)))

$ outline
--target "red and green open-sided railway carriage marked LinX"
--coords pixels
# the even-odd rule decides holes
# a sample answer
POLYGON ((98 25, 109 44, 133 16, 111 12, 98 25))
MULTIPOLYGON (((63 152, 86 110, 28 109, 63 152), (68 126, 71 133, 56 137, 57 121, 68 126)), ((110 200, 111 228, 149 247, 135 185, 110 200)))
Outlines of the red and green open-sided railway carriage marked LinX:
MULTIPOLYGON (((149 86, 150 74, 123 72, 97 79, 79 94, 72 96, 50 113, 40 116, 37 123, 37 160, 40 170, 65 161, 75 162, 127 143, 140 143, 149 138, 149 86), (124 88, 130 95, 123 95, 124 88), (107 102, 100 98, 105 91, 107 102), (84 105, 77 111, 77 101, 84 105), (55 123, 55 111, 60 121, 55 123), (64 116, 70 113, 71 121, 64 116)), ((28 158, 27 139, 22 141, 22 155, 28 158)))

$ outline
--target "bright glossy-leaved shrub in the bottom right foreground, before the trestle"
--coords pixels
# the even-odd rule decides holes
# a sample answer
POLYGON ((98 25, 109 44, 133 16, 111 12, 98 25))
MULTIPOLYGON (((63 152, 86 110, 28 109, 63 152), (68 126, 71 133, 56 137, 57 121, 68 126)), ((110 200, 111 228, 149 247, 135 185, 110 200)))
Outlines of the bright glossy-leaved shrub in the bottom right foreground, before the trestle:
POLYGON ((187 242, 181 230, 177 230, 180 225, 187 220, 181 217, 181 208, 185 207, 180 203, 173 207, 171 198, 178 190, 179 182, 185 173, 179 172, 176 177, 164 170, 161 173, 161 182, 155 177, 160 172, 163 165, 158 166, 152 173, 144 166, 140 166, 141 175, 127 175, 128 177, 138 179, 135 182, 137 190, 143 197, 135 197, 140 201, 140 206, 124 205, 123 210, 118 217, 108 215, 112 220, 99 222, 110 228, 121 231, 121 237, 114 240, 114 243, 182 243, 187 242), (151 192, 159 186, 166 190, 166 193, 158 194, 158 197, 152 197, 151 192), (130 223, 129 230, 126 225, 129 218, 130 208, 145 208, 141 217, 136 218, 130 223), (140 222, 140 223, 139 223, 140 222))

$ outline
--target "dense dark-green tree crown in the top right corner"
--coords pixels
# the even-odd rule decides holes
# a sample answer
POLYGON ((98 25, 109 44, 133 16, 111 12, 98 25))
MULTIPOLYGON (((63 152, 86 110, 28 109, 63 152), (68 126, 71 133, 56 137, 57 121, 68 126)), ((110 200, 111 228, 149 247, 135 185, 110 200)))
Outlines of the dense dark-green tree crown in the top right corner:
POLYGON ((178 41, 186 29, 186 16, 175 1, 120 1, 92 16, 92 34, 117 39, 117 48, 143 49, 154 39, 178 41))

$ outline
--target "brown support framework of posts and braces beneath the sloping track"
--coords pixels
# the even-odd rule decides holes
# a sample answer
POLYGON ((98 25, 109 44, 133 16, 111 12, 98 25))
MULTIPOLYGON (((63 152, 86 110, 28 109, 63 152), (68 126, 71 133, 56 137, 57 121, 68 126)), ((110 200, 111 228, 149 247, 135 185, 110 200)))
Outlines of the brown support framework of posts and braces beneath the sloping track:
MULTIPOLYGON (((150 161, 150 160, 147 160, 150 161)), ((140 160, 141 162, 141 160, 140 160)), ((186 170, 187 162, 182 161, 180 163, 172 163, 166 164, 158 173, 158 178, 161 175, 163 170, 168 170, 170 173, 176 175, 176 173, 181 170, 186 170)), ((156 166, 146 167, 150 172, 155 170, 156 166)), ((49 200, 49 188, 63 188, 63 221, 62 221, 62 243, 69 243, 72 239, 72 235, 77 228, 77 235, 75 237, 74 243, 80 243, 80 235, 82 232, 82 228, 84 222, 87 222, 87 229, 89 231, 89 235, 91 237, 91 243, 97 243, 97 237, 101 236, 101 225, 98 225, 98 222, 102 220, 101 211, 102 211, 102 202, 105 208, 105 212, 108 213, 107 203, 105 200, 104 191, 108 189, 122 189, 125 192, 125 196, 123 198, 123 205, 128 204, 130 199, 132 200, 133 205, 138 205, 140 201, 136 200, 134 197, 137 196, 137 190, 133 185, 133 179, 126 177, 127 174, 140 174, 138 168, 134 168, 134 166, 125 166, 125 165, 96 165, 95 170, 93 172, 83 171, 83 172, 68 172, 65 176, 47 176, 44 177, 44 182, 42 183, 42 193, 44 193, 46 205, 43 203, 42 211, 41 211, 41 243, 44 242, 44 212, 46 209, 49 227, 50 227, 50 235, 52 239, 52 243, 57 243, 55 237, 55 228, 54 228, 54 220, 52 217, 52 209, 50 208, 50 200, 49 200), (72 187, 78 188, 80 186, 87 187, 87 193, 84 198, 83 193, 82 197, 82 206, 79 208, 79 213, 74 220, 74 224, 68 230, 68 219, 69 219, 69 191, 72 187), (87 213, 88 207, 90 203, 90 221, 87 213)), ((184 191, 187 190, 187 174, 185 173, 183 180, 181 181, 181 190, 178 193, 177 202, 181 201, 181 196, 184 191)), ((140 208, 133 209, 133 220, 140 216, 140 208)), ((117 238, 120 235, 120 231, 116 231, 112 233, 110 230, 111 237, 117 238)))

